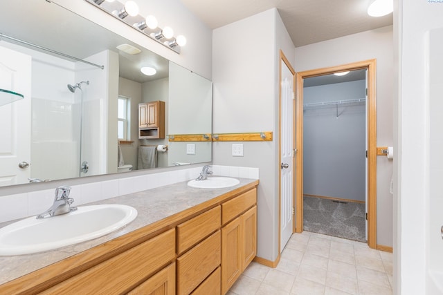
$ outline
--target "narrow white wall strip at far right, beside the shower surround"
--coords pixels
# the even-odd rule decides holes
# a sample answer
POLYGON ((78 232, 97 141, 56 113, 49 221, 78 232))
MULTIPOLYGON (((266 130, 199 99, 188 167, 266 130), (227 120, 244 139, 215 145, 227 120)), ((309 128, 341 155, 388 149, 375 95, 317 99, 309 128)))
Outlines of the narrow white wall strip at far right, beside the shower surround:
MULTIPOLYGON (((431 294, 426 286, 428 238, 435 233, 428 221, 428 157, 436 144, 428 137, 426 32, 443 27, 443 5, 430 2, 395 1, 395 294, 431 294)), ((442 110, 438 113, 441 117, 442 110)))

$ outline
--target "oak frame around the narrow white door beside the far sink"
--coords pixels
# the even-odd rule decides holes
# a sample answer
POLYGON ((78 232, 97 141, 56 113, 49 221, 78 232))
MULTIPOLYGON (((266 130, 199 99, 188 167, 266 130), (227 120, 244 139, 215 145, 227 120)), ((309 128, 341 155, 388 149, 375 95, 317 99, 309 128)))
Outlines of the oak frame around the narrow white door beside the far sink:
MULTIPOLYGON (((280 169, 280 163, 282 162, 282 62, 288 67, 288 69, 291 71, 293 75, 293 87, 294 89, 294 95, 296 95, 296 71, 291 66, 291 63, 287 59, 286 56, 284 56, 283 51, 280 49, 280 59, 279 59, 279 73, 278 73, 278 260, 280 260, 280 254, 282 252, 282 245, 281 244, 281 234, 282 234, 282 174, 280 169)), ((296 97, 293 97, 293 104, 292 104, 292 122, 291 124, 296 123, 296 97)), ((296 131, 294 128, 293 131, 296 131)), ((296 146, 296 137, 292 137, 292 149, 295 149, 296 146)), ((295 151, 293 151, 294 155, 295 151)), ((296 175, 294 168, 296 166, 296 157, 292 157, 292 169, 293 169, 293 178, 292 178, 292 207, 294 207, 295 203, 295 190, 296 190, 296 175)), ((294 212, 295 210, 293 210, 294 212)), ((294 212, 295 213, 295 212, 294 212)), ((292 218, 292 232, 295 232, 295 216, 292 218)))

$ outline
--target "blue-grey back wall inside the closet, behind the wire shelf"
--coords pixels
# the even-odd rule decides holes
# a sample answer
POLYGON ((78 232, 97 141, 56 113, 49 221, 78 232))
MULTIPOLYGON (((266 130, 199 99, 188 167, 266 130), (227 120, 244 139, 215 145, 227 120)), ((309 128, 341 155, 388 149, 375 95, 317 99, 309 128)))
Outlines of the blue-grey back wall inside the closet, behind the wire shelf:
MULTIPOLYGON (((303 104, 361 98, 365 80, 303 88, 303 104)), ((303 111, 303 193, 365 201, 364 102, 303 111)))

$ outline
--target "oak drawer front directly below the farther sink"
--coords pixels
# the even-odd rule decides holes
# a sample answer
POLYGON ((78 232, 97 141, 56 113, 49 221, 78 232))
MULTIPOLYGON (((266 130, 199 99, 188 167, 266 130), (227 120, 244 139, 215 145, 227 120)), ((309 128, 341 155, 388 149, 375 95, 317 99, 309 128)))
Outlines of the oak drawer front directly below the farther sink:
POLYGON ((239 216, 241 213, 247 209, 253 207, 257 202, 257 189, 251 189, 251 191, 246 191, 240 196, 228 200, 221 204, 221 224, 225 225, 230 220, 239 216))

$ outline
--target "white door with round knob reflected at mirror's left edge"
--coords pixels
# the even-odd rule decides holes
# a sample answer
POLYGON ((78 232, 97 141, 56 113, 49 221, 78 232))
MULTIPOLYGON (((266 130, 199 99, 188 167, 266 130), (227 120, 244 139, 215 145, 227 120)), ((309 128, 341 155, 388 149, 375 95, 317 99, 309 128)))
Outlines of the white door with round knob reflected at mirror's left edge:
POLYGON ((0 88, 24 99, 0 106, 0 187, 28 182, 30 166, 31 57, 0 46, 0 88))

